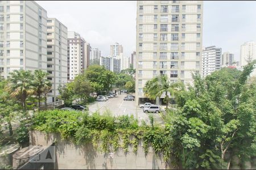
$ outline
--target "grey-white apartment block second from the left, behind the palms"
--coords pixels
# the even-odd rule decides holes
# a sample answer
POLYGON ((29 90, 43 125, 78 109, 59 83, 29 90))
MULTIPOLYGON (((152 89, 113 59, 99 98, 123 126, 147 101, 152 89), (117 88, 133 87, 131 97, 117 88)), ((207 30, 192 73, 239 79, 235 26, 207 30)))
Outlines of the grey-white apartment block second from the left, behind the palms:
POLYGON ((68 28, 55 18, 47 19, 47 72, 48 80, 52 82, 51 98, 56 101, 59 96, 58 87, 68 80, 68 28))

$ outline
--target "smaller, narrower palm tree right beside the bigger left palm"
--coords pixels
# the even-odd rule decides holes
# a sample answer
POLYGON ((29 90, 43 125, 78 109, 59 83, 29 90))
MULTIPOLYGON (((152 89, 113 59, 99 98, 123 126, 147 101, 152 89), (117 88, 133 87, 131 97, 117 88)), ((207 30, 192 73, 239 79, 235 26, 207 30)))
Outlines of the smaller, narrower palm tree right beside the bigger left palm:
POLYGON ((43 92, 46 89, 51 89, 52 84, 49 82, 47 79, 48 73, 42 70, 35 70, 34 76, 34 86, 35 86, 35 94, 38 96, 38 107, 40 108, 40 101, 41 101, 41 96, 43 92))

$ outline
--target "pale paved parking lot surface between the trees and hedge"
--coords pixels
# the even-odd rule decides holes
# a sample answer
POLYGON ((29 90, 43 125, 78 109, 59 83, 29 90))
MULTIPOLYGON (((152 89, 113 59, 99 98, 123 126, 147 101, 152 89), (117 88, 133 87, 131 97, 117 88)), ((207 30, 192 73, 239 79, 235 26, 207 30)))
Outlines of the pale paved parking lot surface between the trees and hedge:
POLYGON ((146 121, 147 124, 150 123, 148 115, 152 114, 156 124, 163 124, 162 117, 158 113, 143 113, 143 110, 136 106, 136 101, 124 101, 123 98, 126 95, 117 95, 112 99, 107 101, 96 101, 93 104, 90 104, 89 113, 99 112, 103 114, 106 111, 112 113, 112 116, 121 116, 121 115, 133 115, 138 118, 139 122, 142 120, 146 121))

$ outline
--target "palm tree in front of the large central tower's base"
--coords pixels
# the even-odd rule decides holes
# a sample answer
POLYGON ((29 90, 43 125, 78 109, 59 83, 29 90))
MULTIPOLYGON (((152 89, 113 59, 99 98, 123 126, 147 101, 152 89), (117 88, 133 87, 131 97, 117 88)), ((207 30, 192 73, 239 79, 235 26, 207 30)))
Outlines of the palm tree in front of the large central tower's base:
POLYGON ((172 97, 175 96, 176 92, 181 87, 180 82, 170 82, 167 75, 160 75, 146 83, 143 88, 144 94, 150 99, 156 99, 165 94, 164 99, 166 100, 166 109, 168 109, 168 103, 170 102, 170 94, 172 97))

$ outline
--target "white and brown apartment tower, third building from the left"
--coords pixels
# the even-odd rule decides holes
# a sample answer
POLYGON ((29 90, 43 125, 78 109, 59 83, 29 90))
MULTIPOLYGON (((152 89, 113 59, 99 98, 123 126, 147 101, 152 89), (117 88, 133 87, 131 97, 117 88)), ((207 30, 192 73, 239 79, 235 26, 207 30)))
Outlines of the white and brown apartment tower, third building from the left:
POLYGON ((68 31, 68 80, 86 69, 85 42, 79 33, 68 31))

